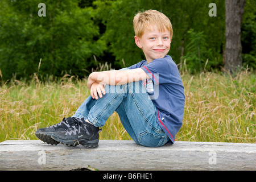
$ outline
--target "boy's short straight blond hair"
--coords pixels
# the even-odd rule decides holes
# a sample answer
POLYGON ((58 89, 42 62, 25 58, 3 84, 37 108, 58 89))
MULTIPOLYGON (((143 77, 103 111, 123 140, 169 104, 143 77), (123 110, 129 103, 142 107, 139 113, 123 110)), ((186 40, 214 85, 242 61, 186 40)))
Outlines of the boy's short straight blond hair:
POLYGON ((141 38, 145 28, 151 30, 152 25, 155 25, 160 32, 163 32, 165 29, 170 31, 171 37, 173 34, 172 24, 170 19, 166 15, 160 13, 156 10, 147 10, 144 12, 139 12, 134 16, 133 27, 135 35, 138 38, 141 38))

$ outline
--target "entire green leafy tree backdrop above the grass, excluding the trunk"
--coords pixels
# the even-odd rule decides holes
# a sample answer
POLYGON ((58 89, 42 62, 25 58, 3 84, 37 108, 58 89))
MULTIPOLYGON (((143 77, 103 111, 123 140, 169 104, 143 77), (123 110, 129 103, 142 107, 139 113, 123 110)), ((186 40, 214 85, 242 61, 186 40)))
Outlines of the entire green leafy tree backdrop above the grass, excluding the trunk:
MULTIPOLYGON (((12 77, 84 77, 99 63, 129 67, 144 58, 134 43, 133 17, 155 9, 174 28, 172 56, 180 69, 201 72, 223 66, 225 1, 223 0, 46 0, 46 17, 38 16, 39 0, 0 1, 0 69, 12 77), (217 16, 210 17, 209 3, 217 16), (200 50, 200 51, 199 51, 200 50), (94 61, 94 57, 98 62, 94 61)), ((243 65, 256 68, 255 0, 247 0, 242 24, 243 65)))

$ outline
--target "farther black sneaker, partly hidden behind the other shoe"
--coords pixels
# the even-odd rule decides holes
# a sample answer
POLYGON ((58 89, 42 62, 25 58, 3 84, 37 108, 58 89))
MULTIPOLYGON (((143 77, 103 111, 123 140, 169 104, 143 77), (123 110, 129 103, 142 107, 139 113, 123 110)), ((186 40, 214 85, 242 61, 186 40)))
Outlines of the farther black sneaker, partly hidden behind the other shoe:
POLYGON ((35 135, 43 142, 56 145, 59 144, 60 142, 57 142, 56 140, 52 139, 51 135, 56 131, 63 131, 65 129, 68 129, 69 127, 75 125, 75 123, 77 122, 78 119, 75 118, 63 118, 63 120, 60 123, 57 123, 56 125, 36 130, 35 135))

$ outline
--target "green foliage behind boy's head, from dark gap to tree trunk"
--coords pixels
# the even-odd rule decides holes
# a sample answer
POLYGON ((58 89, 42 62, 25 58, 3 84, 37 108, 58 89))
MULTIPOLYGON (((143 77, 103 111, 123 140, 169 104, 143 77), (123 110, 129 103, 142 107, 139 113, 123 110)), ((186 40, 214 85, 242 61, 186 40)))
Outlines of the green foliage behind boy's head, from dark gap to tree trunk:
MULTIPOLYGON (((220 0, 214 1, 217 4, 219 13, 217 17, 210 17, 208 15, 210 10, 208 6, 211 2, 199 0, 117 0, 95 1, 93 4, 96 6, 99 18, 102 19, 106 26, 106 31, 102 38, 107 44, 110 44, 110 51, 113 52, 119 65, 122 65, 122 59, 125 60, 126 66, 144 59, 143 52, 134 43, 133 17, 138 11, 147 9, 161 11, 171 19, 174 36, 170 55, 177 64, 180 63, 180 57, 189 51, 187 50, 187 44, 191 42, 191 38, 189 38, 188 31, 191 28, 195 32, 204 30, 205 42, 208 43, 205 49, 212 50, 210 56, 205 55, 202 57, 201 60, 204 65, 208 58, 212 58, 211 61, 213 62, 222 57, 221 50, 225 43, 225 13, 223 11, 225 10, 225 3, 220 0), (184 49, 184 52, 181 49, 184 49)), ((197 68, 196 70, 200 71, 197 68)))

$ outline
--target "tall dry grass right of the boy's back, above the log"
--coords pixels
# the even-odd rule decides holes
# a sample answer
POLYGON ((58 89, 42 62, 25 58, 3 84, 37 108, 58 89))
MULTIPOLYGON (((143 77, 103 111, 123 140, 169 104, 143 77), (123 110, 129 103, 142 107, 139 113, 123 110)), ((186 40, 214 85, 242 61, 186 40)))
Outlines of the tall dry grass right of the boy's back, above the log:
POLYGON ((183 75, 185 110, 178 140, 255 143, 255 74, 183 75))

